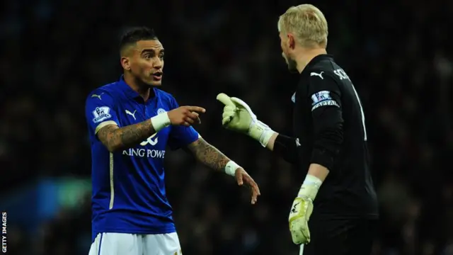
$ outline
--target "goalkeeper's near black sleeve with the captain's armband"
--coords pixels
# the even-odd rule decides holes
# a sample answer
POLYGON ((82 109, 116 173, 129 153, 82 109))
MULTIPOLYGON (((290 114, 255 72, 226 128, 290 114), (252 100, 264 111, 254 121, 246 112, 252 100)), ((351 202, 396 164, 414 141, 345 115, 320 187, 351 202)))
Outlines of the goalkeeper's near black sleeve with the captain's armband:
POLYGON ((328 74, 324 74, 323 79, 309 77, 308 85, 314 130, 310 163, 320 164, 331 170, 343 143, 340 88, 328 74))

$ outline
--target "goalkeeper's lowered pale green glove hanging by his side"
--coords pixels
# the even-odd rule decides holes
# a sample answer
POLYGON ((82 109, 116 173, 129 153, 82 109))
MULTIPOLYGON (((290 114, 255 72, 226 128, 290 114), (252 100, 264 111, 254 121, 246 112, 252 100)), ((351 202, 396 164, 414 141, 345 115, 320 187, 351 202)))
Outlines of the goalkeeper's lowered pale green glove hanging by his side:
POLYGON ((289 231, 294 244, 308 244, 310 230, 308 222, 313 212, 313 200, 321 187, 322 181, 315 176, 306 175, 305 181, 292 203, 289 212, 289 231))

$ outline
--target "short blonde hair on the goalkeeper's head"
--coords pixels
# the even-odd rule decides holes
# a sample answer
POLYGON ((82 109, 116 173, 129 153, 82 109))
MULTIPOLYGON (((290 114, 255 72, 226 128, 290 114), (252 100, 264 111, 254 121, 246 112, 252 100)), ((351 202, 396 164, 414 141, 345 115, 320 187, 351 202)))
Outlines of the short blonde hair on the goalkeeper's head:
POLYGON ((311 4, 289 7, 278 19, 277 27, 279 32, 293 33, 302 47, 327 46, 326 17, 311 4))

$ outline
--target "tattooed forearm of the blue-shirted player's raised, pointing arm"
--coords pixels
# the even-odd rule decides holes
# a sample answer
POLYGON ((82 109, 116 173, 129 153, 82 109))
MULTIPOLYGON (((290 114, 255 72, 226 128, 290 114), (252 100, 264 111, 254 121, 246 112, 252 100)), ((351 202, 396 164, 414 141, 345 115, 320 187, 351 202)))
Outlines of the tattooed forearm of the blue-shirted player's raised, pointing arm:
POLYGON ((110 152, 115 152, 137 145, 155 132, 151 120, 145 120, 124 128, 118 128, 117 125, 107 125, 99 130, 98 137, 110 152))

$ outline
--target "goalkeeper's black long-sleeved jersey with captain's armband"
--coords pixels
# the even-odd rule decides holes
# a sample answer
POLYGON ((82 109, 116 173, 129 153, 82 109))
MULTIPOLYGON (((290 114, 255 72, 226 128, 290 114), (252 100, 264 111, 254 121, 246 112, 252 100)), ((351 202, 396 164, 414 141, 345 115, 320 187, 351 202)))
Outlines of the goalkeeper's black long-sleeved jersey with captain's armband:
POLYGON ((300 74, 292 101, 294 136, 278 135, 274 151, 300 171, 310 164, 329 169, 314 216, 377 218, 365 115, 348 75, 330 55, 314 57, 300 74))

